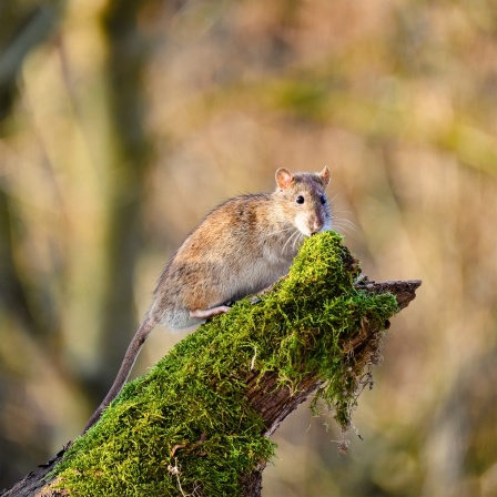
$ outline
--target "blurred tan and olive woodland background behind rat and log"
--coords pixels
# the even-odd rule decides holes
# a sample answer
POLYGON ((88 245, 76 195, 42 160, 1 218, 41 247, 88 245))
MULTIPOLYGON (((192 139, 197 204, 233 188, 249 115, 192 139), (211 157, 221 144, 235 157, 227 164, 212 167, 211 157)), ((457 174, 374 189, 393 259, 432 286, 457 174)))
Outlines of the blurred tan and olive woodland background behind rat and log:
POLYGON ((364 440, 301 406, 263 495, 496 496, 496 136, 489 0, 2 0, 0 488, 78 436, 210 209, 328 164, 363 271, 423 286, 364 440))

